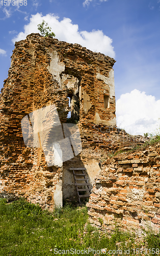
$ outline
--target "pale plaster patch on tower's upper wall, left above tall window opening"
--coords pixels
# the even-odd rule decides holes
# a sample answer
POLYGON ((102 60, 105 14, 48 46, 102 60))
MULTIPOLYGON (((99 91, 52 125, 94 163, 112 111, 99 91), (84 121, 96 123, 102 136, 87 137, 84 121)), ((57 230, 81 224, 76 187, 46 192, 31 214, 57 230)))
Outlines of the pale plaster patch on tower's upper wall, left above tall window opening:
POLYGON ((65 65, 63 62, 59 61, 59 56, 56 51, 52 52, 50 55, 51 61, 50 66, 47 67, 48 71, 52 74, 54 79, 59 83, 59 86, 62 87, 62 81, 60 74, 65 71, 65 65))

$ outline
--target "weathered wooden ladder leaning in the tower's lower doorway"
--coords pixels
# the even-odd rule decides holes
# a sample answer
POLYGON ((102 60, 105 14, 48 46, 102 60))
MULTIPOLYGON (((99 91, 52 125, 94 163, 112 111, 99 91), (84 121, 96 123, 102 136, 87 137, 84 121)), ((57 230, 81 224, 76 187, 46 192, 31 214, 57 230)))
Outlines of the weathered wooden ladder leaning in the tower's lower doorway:
POLYGON ((81 193, 81 191, 89 191, 89 193, 91 194, 91 188, 89 188, 89 186, 91 186, 91 184, 87 183, 86 175, 84 173, 84 170, 86 170, 86 168, 73 168, 72 167, 72 168, 69 168, 69 170, 73 171, 74 182, 75 182, 74 185, 76 186, 76 191, 77 191, 79 203, 81 203, 81 198, 82 197, 89 197, 89 196, 87 196, 87 195, 79 195, 79 192, 81 193), (76 176, 77 177, 80 176, 79 179, 76 178, 76 176), (86 183, 78 183, 78 181, 85 181, 86 183), (78 188, 79 186, 81 186, 81 187, 84 186, 84 188, 78 188), (86 188, 86 186, 88 188, 86 188))

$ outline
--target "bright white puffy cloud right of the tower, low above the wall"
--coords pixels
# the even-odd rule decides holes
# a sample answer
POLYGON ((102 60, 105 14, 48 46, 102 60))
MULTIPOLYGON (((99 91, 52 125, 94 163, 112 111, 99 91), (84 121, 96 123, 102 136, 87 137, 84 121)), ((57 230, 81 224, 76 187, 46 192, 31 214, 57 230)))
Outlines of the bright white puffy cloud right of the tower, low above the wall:
POLYGON ((132 135, 155 133, 160 127, 160 100, 135 89, 116 102, 117 126, 132 135))

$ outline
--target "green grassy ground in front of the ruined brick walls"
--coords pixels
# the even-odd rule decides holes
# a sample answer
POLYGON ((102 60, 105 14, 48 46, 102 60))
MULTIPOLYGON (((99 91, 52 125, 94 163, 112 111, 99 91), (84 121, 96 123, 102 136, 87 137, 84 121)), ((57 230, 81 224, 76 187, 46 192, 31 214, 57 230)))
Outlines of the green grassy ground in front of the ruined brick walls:
POLYGON ((121 233, 118 228, 108 234, 93 228, 87 219, 85 206, 72 208, 66 205, 48 212, 23 199, 12 203, 0 199, 0 255, 160 254, 160 234, 148 233, 145 238, 138 239, 121 233), (142 251, 138 253, 136 248, 142 251), (150 248, 157 249, 149 251, 150 248), (95 251, 90 252, 92 249, 95 251), (105 250, 100 253, 101 249, 105 250))

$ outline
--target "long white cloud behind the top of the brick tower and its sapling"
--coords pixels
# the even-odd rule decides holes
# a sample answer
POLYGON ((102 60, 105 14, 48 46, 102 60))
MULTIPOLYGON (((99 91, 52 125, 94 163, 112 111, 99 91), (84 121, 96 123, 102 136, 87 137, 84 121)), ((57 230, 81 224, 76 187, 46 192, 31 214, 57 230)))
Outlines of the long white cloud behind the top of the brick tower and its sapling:
POLYGON ((26 35, 31 33, 39 33, 37 25, 42 23, 43 19, 59 40, 72 44, 77 43, 94 52, 101 52, 110 57, 115 57, 112 39, 104 35, 101 30, 92 30, 92 32, 78 31, 78 25, 72 24, 71 19, 63 18, 63 20, 59 21, 59 17, 53 14, 42 16, 42 14, 37 13, 32 15, 30 23, 24 26, 24 32, 20 32, 12 41, 25 39, 26 35))

